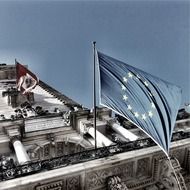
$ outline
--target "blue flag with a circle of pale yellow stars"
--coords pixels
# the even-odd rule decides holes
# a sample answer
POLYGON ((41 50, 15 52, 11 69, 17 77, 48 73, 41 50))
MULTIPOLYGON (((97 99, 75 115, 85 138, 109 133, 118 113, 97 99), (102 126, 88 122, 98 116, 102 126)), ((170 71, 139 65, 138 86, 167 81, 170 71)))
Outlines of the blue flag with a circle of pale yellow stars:
POLYGON ((168 154, 181 89, 100 52, 97 54, 100 104, 141 128, 168 154))

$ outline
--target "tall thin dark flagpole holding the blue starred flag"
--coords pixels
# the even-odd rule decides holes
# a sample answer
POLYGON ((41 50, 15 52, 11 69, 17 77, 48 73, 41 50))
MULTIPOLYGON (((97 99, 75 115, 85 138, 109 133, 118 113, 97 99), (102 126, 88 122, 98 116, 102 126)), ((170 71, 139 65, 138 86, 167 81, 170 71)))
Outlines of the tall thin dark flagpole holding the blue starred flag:
POLYGON ((95 149, 97 149, 97 139, 96 139, 96 42, 95 41, 93 41, 93 54, 94 54, 94 75, 93 75, 94 140, 95 140, 95 149))

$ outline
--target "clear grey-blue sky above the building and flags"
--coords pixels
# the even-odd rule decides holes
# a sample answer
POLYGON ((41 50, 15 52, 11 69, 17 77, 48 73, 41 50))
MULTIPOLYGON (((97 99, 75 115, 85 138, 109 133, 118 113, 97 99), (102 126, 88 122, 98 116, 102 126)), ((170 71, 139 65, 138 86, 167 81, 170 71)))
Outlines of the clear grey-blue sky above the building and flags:
POLYGON ((190 1, 0 1, 0 62, 92 106, 97 49, 179 85, 190 103, 190 1))

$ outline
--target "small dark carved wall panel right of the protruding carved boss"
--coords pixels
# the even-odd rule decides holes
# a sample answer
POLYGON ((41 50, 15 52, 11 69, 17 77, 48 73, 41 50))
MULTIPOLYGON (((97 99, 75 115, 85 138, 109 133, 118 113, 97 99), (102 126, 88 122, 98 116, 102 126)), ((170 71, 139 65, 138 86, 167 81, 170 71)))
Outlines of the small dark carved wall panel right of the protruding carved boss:
POLYGON ((143 158, 137 161, 137 177, 146 177, 148 176, 149 166, 150 165, 150 158, 143 158))

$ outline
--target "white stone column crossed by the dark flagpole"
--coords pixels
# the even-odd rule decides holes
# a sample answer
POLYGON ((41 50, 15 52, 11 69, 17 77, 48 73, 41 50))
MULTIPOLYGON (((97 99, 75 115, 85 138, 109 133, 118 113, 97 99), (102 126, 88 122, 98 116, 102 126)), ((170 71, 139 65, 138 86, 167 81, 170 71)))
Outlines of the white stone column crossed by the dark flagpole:
MULTIPOLYGON (((88 127, 87 132, 94 137, 94 127, 88 127)), ((113 144, 112 141, 110 141, 107 137, 105 137, 102 133, 100 133, 98 130, 96 130, 96 140, 98 147, 102 146, 110 146, 113 144)))

